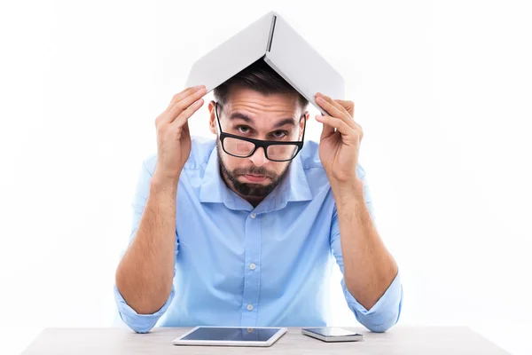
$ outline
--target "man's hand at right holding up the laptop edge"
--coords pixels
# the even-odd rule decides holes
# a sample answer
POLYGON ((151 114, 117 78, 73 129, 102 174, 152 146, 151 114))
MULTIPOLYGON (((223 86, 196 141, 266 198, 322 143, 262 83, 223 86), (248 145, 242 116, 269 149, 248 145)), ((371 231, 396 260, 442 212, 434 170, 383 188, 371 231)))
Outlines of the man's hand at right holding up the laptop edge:
POLYGON ((331 115, 316 116, 324 123, 320 142, 319 158, 331 184, 354 182, 360 144, 364 137, 362 127, 353 119, 355 103, 328 96, 316 95, 317 104, 331 115))

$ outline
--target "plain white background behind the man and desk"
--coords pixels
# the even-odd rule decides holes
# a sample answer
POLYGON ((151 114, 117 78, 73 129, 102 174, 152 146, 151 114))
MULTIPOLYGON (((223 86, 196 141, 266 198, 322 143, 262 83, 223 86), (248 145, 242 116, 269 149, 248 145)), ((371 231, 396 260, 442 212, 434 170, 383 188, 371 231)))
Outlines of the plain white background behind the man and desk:
MULTIPOLYGON (((402 268, 400 323, 532 352, 528 2, 329 0, 2 2, 2 353, 43 327, 115 324, 154 119, 194 60, 270 10, 348 83, 379 233, 402 268)), ((191 129, 210 137, 206 105, 191 129)), ((332 324, 355 324, 338 274, 332 288, 332 324)))

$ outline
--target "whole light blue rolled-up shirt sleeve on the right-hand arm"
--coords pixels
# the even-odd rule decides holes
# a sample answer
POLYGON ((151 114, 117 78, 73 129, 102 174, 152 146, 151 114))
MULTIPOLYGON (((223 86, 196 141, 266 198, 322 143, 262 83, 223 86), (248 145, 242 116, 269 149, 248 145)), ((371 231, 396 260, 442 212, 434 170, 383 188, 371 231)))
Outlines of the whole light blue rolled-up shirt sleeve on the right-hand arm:
MULTIPOLYGON (((371 193, 366 183, 365 172, 360 165, 357 167, 357 173, 358 177, 364 182, 364 201, 366 202, 366 206, 370 211, 372 221, 374 222, 375 214, 372 206, 371 193)), ((334 207, 332 214, 331 248, 332 254, 336 259, 336 263, 340 266, 340 271, 343 275, 344 264, 341 253, 340 225, 338 222, 338 212, 336 210, 336 206, 334 207)), ((364 306, 360 304, 353 295, 351 295, 346 287, 343 277, 340 283, 349 309, 355 313, 356 319, 362 325, 364 325, 364 327, 367 327, 372 332, 380 333, 387 331, 387 329, 394 326, 399 320, 401 307, 403 304, 403 284, 399 272, 397 272, 395 275, 395 279, 387 288, 384 295, 379 298, 379 301, 377 301, 377 303, 374 304, 370 310, 366 310, 364 306)))

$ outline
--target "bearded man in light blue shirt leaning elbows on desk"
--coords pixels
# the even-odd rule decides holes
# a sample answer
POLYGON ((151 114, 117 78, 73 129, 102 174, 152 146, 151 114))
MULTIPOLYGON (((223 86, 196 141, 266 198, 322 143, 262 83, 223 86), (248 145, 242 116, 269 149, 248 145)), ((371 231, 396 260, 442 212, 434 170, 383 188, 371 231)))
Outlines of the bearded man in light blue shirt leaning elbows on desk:
POLYGON ((176 94, 155 120, 116 271, 121 319, 138 333, 163 314, 168 327, 325 326, 334 256, 356 319, 392 327, 403 287, 372 222, 353 102, 317 95, 330 115, 300 150, 308 101, 262 60, 215 89, 206 142, 187 123, 205 94, 176 94))

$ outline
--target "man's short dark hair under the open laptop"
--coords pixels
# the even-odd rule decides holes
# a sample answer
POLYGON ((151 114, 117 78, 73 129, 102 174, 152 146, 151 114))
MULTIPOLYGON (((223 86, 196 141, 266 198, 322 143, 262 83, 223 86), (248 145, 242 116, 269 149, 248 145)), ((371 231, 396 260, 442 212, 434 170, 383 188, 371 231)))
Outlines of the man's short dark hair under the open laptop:
POLYGON ((249 67, 217 86, 214 90, 216 101, 225 105, 229 100, 229 92, 233 86, 259 91, 263 95, 295 93, 298 96, 302 111, 309 105, 309 100, 303 98, 298 91, 293 89, 292 85, 287 83, 281 75, 278 75, 263 59, 255 61, 249 67))

